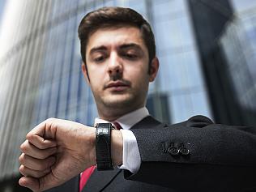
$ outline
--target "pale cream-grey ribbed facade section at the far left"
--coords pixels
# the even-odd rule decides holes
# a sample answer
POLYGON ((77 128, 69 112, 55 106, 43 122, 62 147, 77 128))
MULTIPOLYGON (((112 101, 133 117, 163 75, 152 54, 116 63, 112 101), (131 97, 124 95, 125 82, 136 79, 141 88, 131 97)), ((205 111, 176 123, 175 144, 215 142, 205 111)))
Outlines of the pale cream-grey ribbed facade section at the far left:
POLYGON ((37 27, 45 23, 47 6, 48 2, 6 3, 0 36, 0 180, 18 173, 19 145, 31 129, 45 46, 45 34, 37 27))

